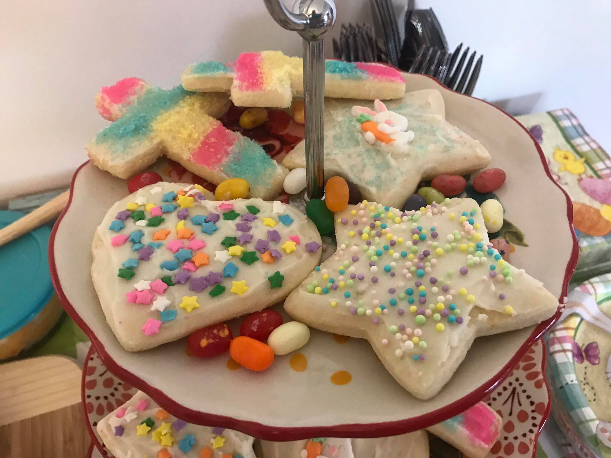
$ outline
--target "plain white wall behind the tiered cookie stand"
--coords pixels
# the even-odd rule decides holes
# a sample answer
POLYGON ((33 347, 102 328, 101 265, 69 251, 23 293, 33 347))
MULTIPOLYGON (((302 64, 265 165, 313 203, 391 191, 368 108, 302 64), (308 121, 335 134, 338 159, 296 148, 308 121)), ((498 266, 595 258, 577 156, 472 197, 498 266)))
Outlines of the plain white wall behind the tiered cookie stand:
MULTIPOLYGON (((517 98, 511 112, 569 107, 611 149, 611 6, 490 3, 417 6, 434 8, 450 46, 464 41, 485 54, 476 96, 517 98)), ((368 0, 338 0, 340 22, 370 17, 368 0)), ((301 53, 297 35, 280 29, 260 0, 5 0, 0 200, 67 183, 86 159, 87 142, 106 125, 93 107, 101 85, 141 76, 170 87, 191 62, 260 49, 301 53)))

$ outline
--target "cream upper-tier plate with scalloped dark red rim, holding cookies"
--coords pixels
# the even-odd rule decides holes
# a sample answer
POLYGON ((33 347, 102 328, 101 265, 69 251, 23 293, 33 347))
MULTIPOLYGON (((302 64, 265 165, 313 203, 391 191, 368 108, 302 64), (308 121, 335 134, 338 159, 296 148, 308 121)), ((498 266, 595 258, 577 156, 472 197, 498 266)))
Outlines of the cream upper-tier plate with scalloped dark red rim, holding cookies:
MULTIPOLYGON (((529 245, 518 247, 511 263, 544 282, 559 299, 565 296, 577 261, 573 209, 568 195, 552 180, 536 141, 516 120, 488 103, 452 92, 427 76, 405 77, 407 90, 439 89, 447 120, 490 151, 489 167, 507 172, 497 195, 505 217, 521 229, 529 245)), ((90 245, 107 209, 127 194, 125 181, 90 163, 76 171, 70 202, 49 242, 54 286, 112 373, 192 423, 229 427, 267 440, 376 437, 422 429, 480 401, 557 319, 478 338, 450 382, 429 401, 403 390, 366 341, 338 344, 318 331, 301 349, 308 360, 302 372, 290 368, 291 355, 277 357, 263 373, 230 371, 227 356, 208 361, 189 357, 185 340, 126 352, 106 324, 93 289, 90 245), (331 375, 339 370, 348 371, 352 381, 342 386, 331 383, 331 375)), ((232 324, 234 329, 238 323, 232 324)))

